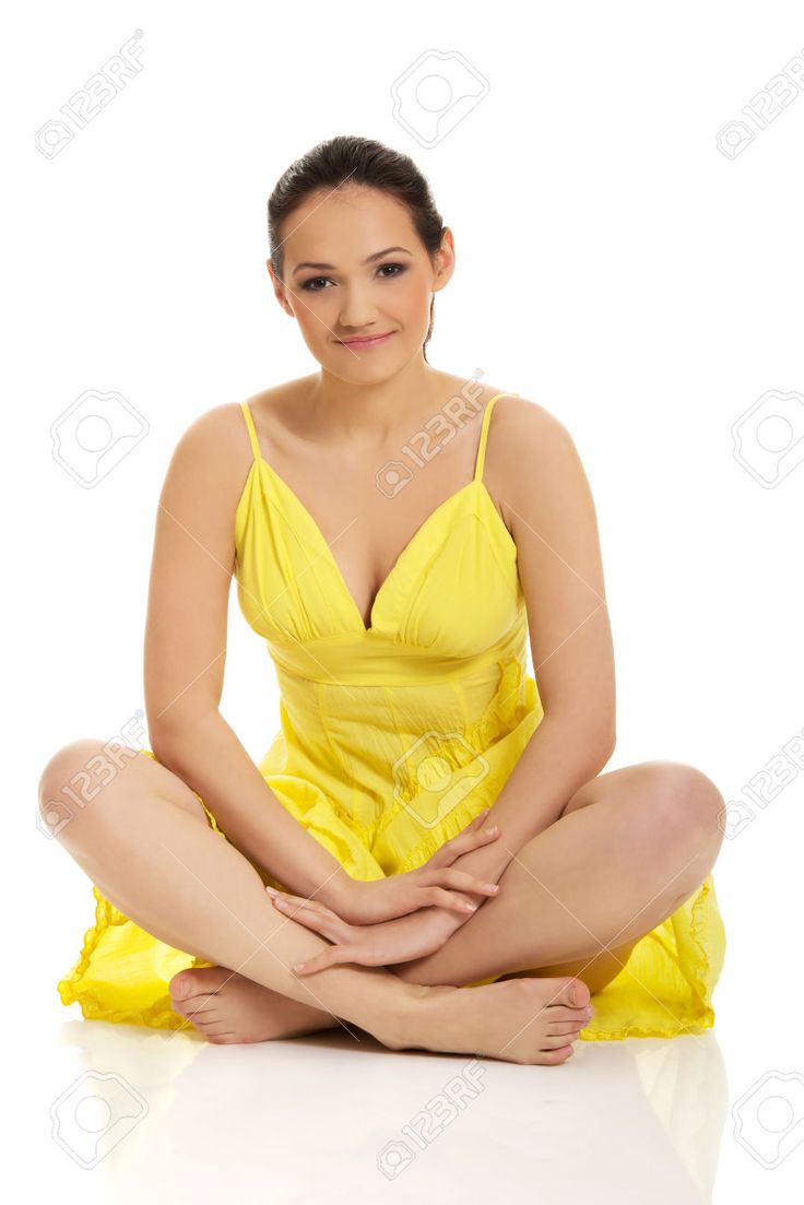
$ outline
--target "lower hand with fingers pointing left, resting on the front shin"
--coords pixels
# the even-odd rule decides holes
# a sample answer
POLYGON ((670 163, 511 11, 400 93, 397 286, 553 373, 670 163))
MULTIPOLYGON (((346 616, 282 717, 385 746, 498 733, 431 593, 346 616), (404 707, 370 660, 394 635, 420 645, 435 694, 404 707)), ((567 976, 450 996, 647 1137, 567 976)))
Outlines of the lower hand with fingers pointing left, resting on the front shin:
POLYGON ((350 924, 325 904, 301 895, 277 892, 272 903, 283 916, 334 942, 309 962, 295 964, 293 970, 300 977, 342 963, 389 966, 424 958, 440 950, 469 918, 469 913, 463 917, 446 909, 430 907, 382 924, 358 925, 350 924))

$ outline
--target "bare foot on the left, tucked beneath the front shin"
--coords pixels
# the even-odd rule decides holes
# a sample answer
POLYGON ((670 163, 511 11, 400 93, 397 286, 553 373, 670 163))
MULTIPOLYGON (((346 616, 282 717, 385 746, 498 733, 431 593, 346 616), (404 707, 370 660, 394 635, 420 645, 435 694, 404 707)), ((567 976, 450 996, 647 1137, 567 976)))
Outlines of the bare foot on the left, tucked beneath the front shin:
POLYGON ((192 966, 170 981, 174 1010, 216 1044, 268 1042, 339 1024, 319 1009, 272 992, 227 966, 192 966))

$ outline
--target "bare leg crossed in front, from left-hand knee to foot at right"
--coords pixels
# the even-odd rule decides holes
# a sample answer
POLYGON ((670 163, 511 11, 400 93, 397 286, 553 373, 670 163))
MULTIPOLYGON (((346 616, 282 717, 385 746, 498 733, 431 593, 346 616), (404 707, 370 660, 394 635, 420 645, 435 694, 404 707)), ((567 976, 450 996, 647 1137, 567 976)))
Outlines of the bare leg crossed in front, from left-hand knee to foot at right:
MULTIPOLYGON (((43 813, 51 800, 70 798, 63 788, 89 770, 101 745, 76 741, 51 759, 40 782, 43 813)), ((391 1048, 520 1063, 571 1054, 556 1025, 580 1018, 569 995, 574 987, 577 1004, 588 1003, 580 981, 522 978, 460 992, 405 983, 385 968, 333 966, 316 975, 315 986, 303 982, 291 965, 327 942, 276 913, 256 869, 212 831, 176 775, 134 754, 111 781, 95 777, 88 786, 101 789, 58 840, 116 907, 168 945, 353 1022, 391 1048)))

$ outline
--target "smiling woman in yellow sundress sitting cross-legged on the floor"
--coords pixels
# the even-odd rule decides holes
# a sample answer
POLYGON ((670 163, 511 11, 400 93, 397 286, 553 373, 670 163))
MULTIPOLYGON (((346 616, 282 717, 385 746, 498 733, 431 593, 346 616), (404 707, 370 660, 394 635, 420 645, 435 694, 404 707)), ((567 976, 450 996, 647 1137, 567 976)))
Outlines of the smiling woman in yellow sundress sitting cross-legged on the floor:
POLYGON ((600 772, 611 633, 567 429, 429 365, 454 243, 406 155, 321 143, 276 186, 269 237, 321 370, 176 447, 153 748, 76 741, 43 771, 96 901, 63 1001, 212 1042, 353 1024, 542 1064, 579 1035, 710 1027, 723 799, 679 763, 600 772), (281 688, 259 766, 218 710, 233 572, 281 688))

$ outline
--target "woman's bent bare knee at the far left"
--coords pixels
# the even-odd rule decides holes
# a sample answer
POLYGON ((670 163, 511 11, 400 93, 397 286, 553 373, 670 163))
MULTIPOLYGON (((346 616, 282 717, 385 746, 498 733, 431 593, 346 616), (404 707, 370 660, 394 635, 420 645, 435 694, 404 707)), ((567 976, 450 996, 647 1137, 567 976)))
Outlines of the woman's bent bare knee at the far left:
POLYGON ((82 737, 64 745, 45 765, 39 780, 39 827, 57 836, 80 816, 136 751, 108 741, 82 737))

